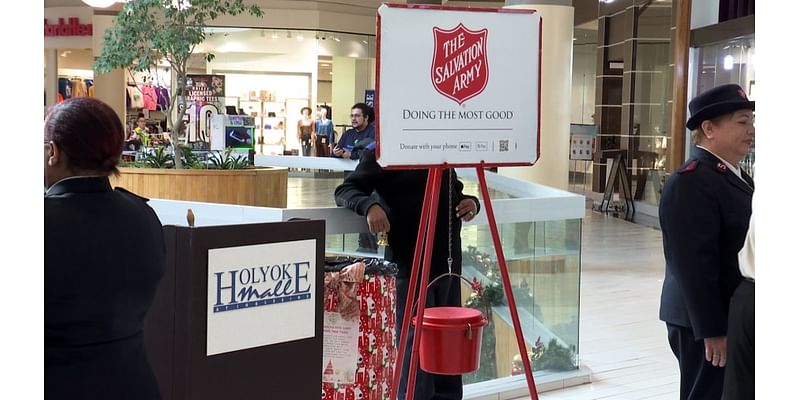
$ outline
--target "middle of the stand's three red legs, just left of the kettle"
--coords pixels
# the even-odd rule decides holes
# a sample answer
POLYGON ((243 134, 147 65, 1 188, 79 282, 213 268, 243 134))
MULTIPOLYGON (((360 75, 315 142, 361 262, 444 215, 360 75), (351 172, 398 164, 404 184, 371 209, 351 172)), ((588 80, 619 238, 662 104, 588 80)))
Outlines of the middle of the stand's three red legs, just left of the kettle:
MULTIPOLYGON (((439 192, 442 183, 442 167, 431 168, 428 175, 433 174, 433 195, 431 196, 430 210, 428 211, 428 229, 425 237, 425 256, 422 259, 422 281, 419 284, 419 297, 417 302, 416 329, 414 341, 411 345, 411 363, 408 366, 408 385, 406 386, 406 400, 414 399, 414 386, 417 383, 417 362, 419 361, 419 340, 422 333, 422 317, 425 314, 425 299, 428 294, 428 281, 431 271, 431 254, 433 253, 433 239, 436 236, 436 214, 439 208, 439 192)), ((423 207, 425 205, 423 204, 423 207)), ((402 355, 401 355, 402 357, 402 355)))

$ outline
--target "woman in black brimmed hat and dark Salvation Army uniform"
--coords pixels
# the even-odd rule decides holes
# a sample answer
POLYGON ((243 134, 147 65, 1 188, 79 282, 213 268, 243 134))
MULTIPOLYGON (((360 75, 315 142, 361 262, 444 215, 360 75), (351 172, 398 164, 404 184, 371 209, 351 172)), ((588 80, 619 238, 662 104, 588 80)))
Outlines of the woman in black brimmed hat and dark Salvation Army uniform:
POLYGON ((681 399, 720 399, 728 309, 742 275, 754 182, 738 164, 755 140, 753 111, 739 85, 722 85, 689 103, 690 159, 661 196, 666 274, 660 319, 678 359, 681 399))

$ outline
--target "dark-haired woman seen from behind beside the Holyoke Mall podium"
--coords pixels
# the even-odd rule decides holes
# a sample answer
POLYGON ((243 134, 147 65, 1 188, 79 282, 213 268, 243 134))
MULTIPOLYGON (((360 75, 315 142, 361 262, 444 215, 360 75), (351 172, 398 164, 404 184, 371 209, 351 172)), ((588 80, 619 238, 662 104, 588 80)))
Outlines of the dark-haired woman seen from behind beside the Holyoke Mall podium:
POLYGON ((88 97, 44 123, 44 392, 50 399, 159 399, 144 318, 166 269, 162 226, 112 188, 125 131, 88 97))

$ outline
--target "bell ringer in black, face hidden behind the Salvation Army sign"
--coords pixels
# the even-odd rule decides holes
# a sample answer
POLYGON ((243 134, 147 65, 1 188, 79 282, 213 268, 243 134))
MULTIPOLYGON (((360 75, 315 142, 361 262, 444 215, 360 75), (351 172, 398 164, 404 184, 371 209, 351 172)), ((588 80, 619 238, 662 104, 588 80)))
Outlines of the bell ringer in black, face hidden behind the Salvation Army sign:
MULTIPOLYGON (((388 236, 388 246, 384 258, 396 263, 399 269, 396 313, 398 340, 402 329, 406 299, 409 295, 414 295, 409 293, 408 286, 427 178, 427 170, 384 170, 375 160, 375 153, 365 150, 355 171, 348 175, 335 191, 337 205, 345 206, 358 215, 366 216, 371 233, 384 232, 388 236), (372 195, 373 191, 378 196, 372 195)), ((448 271, 447 262, 450 253, 452 253, 453 273, 461 273, 461 222, 472 220, 480 210, 478 198, 465 195, 463 188, 464 185, 458 180, 454 170, 444 171, 439 188, 436 234, 431 258, 431 280, 448 271), (449 205, 452 205, 453 208, 450 209, 449 205), (451 241, 451 244, 448 244, 448 240, 451 241)), ((459 279, 449 277, 437 281, 428 291, 426 306, 461 306, 459 279)), ((418 307, 418 309, 421 308, 423 307, 418 307)), ((398 388, 399 399, 406 398, 413 332, 413 329, 409 329, 406 341, 405 361, 401 384, 398 388)), ((415 400, 461 398, 460 375, 437 375, 417 370, 415 400)))

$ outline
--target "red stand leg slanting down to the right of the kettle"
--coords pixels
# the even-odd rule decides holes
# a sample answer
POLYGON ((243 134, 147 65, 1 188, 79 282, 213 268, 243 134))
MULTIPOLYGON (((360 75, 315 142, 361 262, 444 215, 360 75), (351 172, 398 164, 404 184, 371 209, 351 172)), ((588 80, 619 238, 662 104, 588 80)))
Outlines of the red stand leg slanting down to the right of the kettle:
POLYGON ((483 196, 483 202, 486 206, 486 219, 489 221, 489 229, 492 232, 494 249, 497 252, 497 263, 500 266, 500 276, 503 278, 503 289, 506 291, 508 308, 511 311, 511 320, 514 322, 514 333, 517 336, 517 345, 519 346, 520 358, 522 358, 522 365, 525 367, 525 378, 528 380, 528 391, 530 392, 531 400, 539 400, 539 394, 536 392, 536 383, 533 381, 533 369, 531 368, 530 359, 528 359, 528 349, 525 347, 525 338, 522 336, 522 326, 519 323, 519 313, 517 313, 517 303, 514 301, 514 291, 512 290, 511 279, 509 279, 508 275, 506 258, 503 255, 503 246, 500 244, 500 234, 497 231, 497 222, 494 218, 494 210, 492 210, 492 201, 489 197, 489 188, 486 185, 486 175, 483 171, 483 163, 481 163, 481 165, 475 169, 478 172, 481 195, 483 196))

